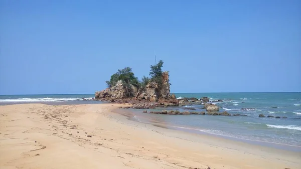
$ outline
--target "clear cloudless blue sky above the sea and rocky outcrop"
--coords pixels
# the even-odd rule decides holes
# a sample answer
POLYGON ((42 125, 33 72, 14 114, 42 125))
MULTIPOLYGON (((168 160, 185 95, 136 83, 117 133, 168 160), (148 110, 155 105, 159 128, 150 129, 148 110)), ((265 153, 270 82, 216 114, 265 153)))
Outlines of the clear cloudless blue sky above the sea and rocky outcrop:
POLYGON ((172 92, 301 91, 301 1, 0 1, 0 94, 94 93, 162 59, 172 92))

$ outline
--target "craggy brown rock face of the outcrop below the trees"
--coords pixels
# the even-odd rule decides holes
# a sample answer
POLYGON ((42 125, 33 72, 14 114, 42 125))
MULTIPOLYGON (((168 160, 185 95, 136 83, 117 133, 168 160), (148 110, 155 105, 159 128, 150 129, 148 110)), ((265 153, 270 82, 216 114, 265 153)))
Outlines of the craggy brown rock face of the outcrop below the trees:
POLYGON ((163 72, 162 74, 162 86, 159 86, 156 82, 149 82, 144 89, 139 89, 133 85, 124 85, 121 80, 117 82, 115 86, 107 88, 95 93, 95 99, 98 100, 110 100, 131 98, 138 101, 157 102, 172 101, 178 104, 178 100, 172 97, 170 94, 169 73, 163 72))

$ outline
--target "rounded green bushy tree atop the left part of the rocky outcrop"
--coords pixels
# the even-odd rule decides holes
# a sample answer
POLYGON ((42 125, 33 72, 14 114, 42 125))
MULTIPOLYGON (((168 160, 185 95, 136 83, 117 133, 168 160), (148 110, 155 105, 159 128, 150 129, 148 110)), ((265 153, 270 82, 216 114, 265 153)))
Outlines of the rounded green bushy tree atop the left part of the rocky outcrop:
POLYGON ((138 78, 134 76, 130 67, 126 67, 122 70, 118 69, 117 73, 111 76, 110 81, 106 81, 106 84, 108 87, 112 87, 116 85, 119 80, 122 80, 125 84, 139 86, 138 78))

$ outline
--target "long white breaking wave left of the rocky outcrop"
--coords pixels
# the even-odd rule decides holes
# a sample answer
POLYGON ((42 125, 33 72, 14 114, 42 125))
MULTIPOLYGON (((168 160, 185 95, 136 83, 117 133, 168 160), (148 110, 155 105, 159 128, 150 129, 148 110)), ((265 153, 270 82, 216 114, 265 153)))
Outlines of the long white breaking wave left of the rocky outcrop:
POLYGON ((81 100, 82 98, 19 98, 19 99, 0 99, 0 102, 53 102, 81 100))

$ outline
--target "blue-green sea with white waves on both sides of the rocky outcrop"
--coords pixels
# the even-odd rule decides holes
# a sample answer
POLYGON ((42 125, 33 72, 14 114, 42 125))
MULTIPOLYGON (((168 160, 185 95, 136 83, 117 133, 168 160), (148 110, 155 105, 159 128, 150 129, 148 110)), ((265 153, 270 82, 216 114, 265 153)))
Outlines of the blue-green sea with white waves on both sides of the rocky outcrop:
MULTIPOLYGON (((209 97, 220 111, 247 116, 164 115, 143 113, 143 109, 124 109, 131 120, 199 134, 211 134, 253 144, 301 152, 301 92, 290 93, 175 93, 177 98, 209 97), (279 116, 280 118, 258 117, 279 116), (284 118, 283 118, 284 117, 284 118), (286 117, 286 118, 285 118, 286 117)), ((105 104, 92 101, 94 94, 0 95, 0 105, 20 103, 105 104), (87 100, 85 100, 85 99, 87 100)), ((0 107, 1 108, 1 107, 0 107)), ((191 103, 167 110, 204 111, 191 103), (187 110, 185 107, 195 108, 187 110)), ((158 108, 151 111, 162 111, 158 108)), ((147 110, 150 111, 150 110, 147 110)))

